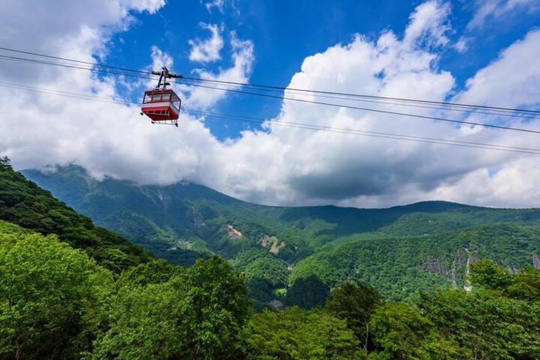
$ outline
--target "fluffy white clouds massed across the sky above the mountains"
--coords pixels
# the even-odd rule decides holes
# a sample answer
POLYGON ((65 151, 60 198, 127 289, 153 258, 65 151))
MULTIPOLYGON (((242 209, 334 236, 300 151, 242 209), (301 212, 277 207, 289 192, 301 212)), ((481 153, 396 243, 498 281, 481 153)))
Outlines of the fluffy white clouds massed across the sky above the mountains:
MULTIPOLYGON (((63 25, 63 30, 51 36, 63 36, 72 41, 53 49, 54 53, 65 55, 69 51, 72 58, 88 60, 92 54, 106 53, 104 44, 108 34, 125 27, 131 11, 157 10, 151 1, 137 4, 147 7, 136 7, 133 1, 119 2, 116 8, 108 8, 107 14, 95 13, 91 22, 83 17, 73 23, 83 23, 82 26, 63 25), (115 11, 115 16, 110 15, 110 11, 115 11)), ((511 45, 499 58, 478 71, 465 90, 456 94, 454 77, 439 68, 437 55, 441 46, 455 46, 449 38, 450 11, 447 4, 428 1, 411 15, 403 37, 392 31, 380 34, 378 39, 358 34, 347 44, 309 56, 304 59, 300 72, 290 80, 289 89, 380 96, 406 94, 409 98, 431 101, 444 101, 453 96, 454 101, 485 105, 538 106, 540 31, 529 32, 527 37, 511 45), (523 65, 525 63, 528 65, 523 65)), ((58 15, 51 21, 62 23, 58 15)), ((16 29, 13 27, 12 31, 18 31, 16 29)), ((41 40, 53 42, 48 37, 41 40)), ((231 68, 217 73, 198 70, 201 76, 238 82, 249 80, 255 60, 252 41, 238 39, 234 32, 229 34, 229 41, 231 68)), ((39 46, 37 49, 41 50, 39 46)), ((170 63, 172 58, 155 48, 153 60, 170 63)), ((120 98, 115 94, 117 79, 98 79, 75 70, 54 71, 39 72, 41 86, 48 84, 49 88, 55 86, 75 92, 85 89, 88 94, 120 98)), ((1 81, 7 81, 11 75, 1 72, 0 76, 1 81)), ((16 91, 14 99, 13 89, 0 91, 0 106, 7 109, 0 118, 3 129, 0 153, 11 156, 18 168, 75 161, 98 177, 108 174, 141 184, 195 181, 244 200, 272 205, 331 203, 381 207, 442 199, 476 205, 537 206, 540 200, 538 192, 534 193, 540 186, 538 155, 283 125, 295 122, 522 148, 537 147, 536 134, 457 127, 445 122, 284 100, 280 115, 267 122, 264 129, 244 131, 239 139, 220 142, 205 127, 203 119, 187 115, 182 115, 180 129, 170 129, 141 122, 136 107, 74 102, 23 91, 16 91)), ((205 108, 225 96, 220 91, 193 91, 186 95, 190 108, 205 108)), ((321 101, 321 98, 293 90, 286 91, 286 96, 321 101)), ((366 103, 365 100, 332 99, 363 108, 457 116, 441 110, 366 103)), ((470 120, 487 121, 479 116, 470 120)), ((509 123, 536 129, 540 125, 538 120, 511 120, 509 123)))

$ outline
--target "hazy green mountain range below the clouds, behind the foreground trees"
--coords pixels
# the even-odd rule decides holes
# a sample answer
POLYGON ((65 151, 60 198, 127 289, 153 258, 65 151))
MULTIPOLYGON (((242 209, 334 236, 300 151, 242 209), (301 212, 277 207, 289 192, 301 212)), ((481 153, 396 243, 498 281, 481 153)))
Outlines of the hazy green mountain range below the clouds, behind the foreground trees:
POLYGON ((196 184, 137 186, 98 181, 76 165, 53 170, 23 174, 170 262, 189 265, 218 253, 245 271, 264 301, 311 275, 329 287, 363 279, 401 300, 425 288, 465 285, 468 260, 491 257, 515 269, 540 255, 539 209, 442 201, 388 209, 270 207, 196 184))

